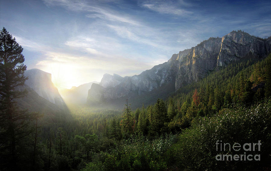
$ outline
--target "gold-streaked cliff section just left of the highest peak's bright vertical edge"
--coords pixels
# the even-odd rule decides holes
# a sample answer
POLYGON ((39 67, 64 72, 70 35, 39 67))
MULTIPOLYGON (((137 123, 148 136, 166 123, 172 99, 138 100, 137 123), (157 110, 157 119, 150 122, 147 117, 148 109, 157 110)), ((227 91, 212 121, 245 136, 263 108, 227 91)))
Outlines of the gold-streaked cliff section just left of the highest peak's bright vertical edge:
POLYGON ((191 49, 179 52, 179 70, 175 88, 198 81, 216 68, 222 38, 209 38, 191 49))

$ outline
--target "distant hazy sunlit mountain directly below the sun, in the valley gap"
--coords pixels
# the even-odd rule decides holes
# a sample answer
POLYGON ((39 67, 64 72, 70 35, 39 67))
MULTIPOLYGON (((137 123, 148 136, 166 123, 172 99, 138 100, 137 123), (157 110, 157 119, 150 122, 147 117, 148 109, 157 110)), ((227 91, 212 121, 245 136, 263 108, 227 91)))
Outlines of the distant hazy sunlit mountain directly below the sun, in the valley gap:
POLYGON ((93 83, 99 84, 99 82, 89 82, 78 87, 72 87, 71 89, 60 90, 60 94, 66 103, 71 104, 86 104, 88 91, 93 83))

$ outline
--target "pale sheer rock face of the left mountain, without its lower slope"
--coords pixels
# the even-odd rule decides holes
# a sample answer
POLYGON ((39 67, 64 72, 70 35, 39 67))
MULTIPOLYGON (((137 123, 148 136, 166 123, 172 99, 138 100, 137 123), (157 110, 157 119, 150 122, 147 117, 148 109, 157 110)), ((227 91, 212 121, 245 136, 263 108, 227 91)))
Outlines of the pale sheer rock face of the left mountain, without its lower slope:
POLYGON ((26 70, 24 75, 28 76, 28 79, 25 81, 25 85, 36 91, 39 96, 57 105, 58 107, 64 108, 66 106, 58 92, 58 89, 51 81, 50 73, 39 69, 31 69, 26 70))

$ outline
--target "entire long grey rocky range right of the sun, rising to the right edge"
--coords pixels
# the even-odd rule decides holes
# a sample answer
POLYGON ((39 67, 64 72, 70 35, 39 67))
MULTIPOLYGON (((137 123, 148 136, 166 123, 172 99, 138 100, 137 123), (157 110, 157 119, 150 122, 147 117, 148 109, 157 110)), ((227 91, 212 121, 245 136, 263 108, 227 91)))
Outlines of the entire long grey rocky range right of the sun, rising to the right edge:
MULTIPOLYGON (((197 82, 211 71, 246 58, 263 58, 271 52, 271 38, 261 39, 242 31, 232 31, 222 38, 209 38, 191 49, 185 49, 165 63, 139 75, 121 77, 104 74, 100 84, 93 84, 88 91, 89 105, 108 104, 158 94, 152 91, 174 92, 183 86, 197 82), (167 85, 174 85, 169 88, 167 85)), ((133 100, 132 100, 133 101, 133 100)))

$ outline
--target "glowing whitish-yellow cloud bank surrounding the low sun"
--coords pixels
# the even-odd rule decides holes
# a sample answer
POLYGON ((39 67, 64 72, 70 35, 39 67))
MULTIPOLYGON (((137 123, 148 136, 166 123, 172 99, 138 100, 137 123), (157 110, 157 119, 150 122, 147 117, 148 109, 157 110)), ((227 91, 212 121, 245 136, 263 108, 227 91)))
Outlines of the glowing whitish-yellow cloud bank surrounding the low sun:
POLYGON ((77 41, 67 41, 65 44, 73 47, 73 52, 53 49, 21 37, 17 37, 17 42, 23 48, 40 52, 42 58, 34 67, 52 73, 52 81, 58 82, 57 84, 62 82, 66 85, 65 88, 94 80, 100 81, 104 73, 132 76, 153 66, 151 63, 138 59, 129 58, 128 60, 124 55, 100 52, 91 46, 93 42, 96 42, 95 39, 79 37, 77 41), (88 55, 82 51, 88 52, 88 55))

